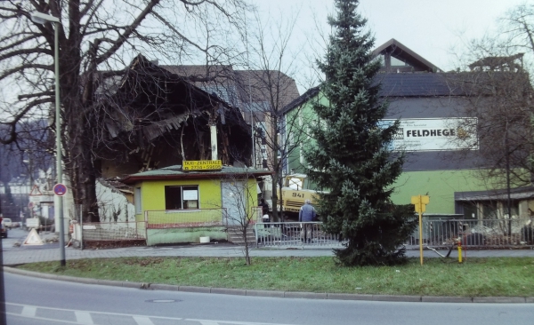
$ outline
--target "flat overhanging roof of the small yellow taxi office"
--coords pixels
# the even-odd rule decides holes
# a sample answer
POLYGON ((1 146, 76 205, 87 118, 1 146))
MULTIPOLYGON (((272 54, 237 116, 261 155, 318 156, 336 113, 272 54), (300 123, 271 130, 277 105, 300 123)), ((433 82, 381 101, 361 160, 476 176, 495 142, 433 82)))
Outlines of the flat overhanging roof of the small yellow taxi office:
POLYGON ((129 175, 122 179, 125 184, 144 180, 186 179, 186 178, 222 178, 224 176, 259 177, 272 175, 269 170, 256 170, 246 167, 223 166, 222 170, 188 170, 183 171, 182 165, 174 165, 158 170, 148 170, 129 175))

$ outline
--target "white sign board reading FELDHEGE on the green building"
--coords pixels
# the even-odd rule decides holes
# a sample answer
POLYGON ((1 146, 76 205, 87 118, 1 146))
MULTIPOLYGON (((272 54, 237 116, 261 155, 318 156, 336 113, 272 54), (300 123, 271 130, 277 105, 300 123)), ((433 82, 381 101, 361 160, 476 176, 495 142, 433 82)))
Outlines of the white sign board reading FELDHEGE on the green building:
MULTIPOLYGON (((394 122, 382 120, 382 125, 394 122)), ((392 150, 478 150, 476 126, 472 117, 401 119, 392 150)))

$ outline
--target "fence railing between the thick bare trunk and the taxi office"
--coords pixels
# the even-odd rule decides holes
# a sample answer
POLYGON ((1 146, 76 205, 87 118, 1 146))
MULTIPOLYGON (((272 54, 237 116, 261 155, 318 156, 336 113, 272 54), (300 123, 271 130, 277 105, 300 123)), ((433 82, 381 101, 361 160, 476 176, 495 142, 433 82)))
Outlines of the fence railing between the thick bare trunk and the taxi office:
POLYGON ((77 224, 75 236, 81 236, 77 240, 81 242, 121 242, 146 240, 146 226, 144 221, 129 222, 95 222, 77 224))

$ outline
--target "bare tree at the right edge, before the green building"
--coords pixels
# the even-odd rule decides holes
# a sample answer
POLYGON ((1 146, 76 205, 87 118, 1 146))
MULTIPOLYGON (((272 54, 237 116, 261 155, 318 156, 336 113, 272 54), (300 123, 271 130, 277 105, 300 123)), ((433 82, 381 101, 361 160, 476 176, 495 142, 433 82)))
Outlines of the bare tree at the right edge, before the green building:
POLYGON ((477 118, 476 125, 459 126, 477 131, 478 174, 491 188, 507 189, 508 218, 511 187, 531 185, 534 173, 533 39, 534 5, 514 7, 498 20, 498 32, 468 43, 458 73, 449 74, 453 94, 466 98, 462 115, 477 118))

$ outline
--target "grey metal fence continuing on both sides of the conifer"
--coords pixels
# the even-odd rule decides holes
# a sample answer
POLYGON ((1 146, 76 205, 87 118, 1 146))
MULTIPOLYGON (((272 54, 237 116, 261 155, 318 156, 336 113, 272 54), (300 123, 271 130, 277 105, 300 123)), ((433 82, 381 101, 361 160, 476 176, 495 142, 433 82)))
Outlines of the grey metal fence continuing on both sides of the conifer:
MULTIPOLYGON (((338 235, 326 234, 320 222, 255 223, 252 226, 258 247, 341 247, 338 235), (304 226, 310 229, 304 239, 304 226)), ((407 249, 419 245, 418 228, 407 242, 407 249)), ((423 244, 433 248, 449 247, 460 239, 466 247, 532 247, 532 219, 424 220, 423 244)))

